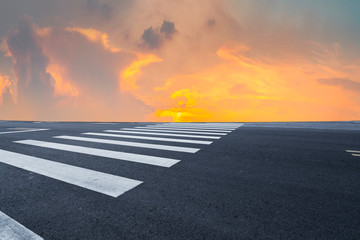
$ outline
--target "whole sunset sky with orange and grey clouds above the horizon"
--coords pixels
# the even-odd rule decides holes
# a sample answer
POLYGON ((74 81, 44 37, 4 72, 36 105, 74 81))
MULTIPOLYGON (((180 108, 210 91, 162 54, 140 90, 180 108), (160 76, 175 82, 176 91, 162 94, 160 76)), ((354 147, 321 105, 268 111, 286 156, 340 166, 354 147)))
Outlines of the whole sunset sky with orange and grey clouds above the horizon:
POLYGON ((1 0, 0 120, 360 120, 358 0, 1 0))

